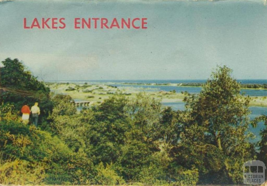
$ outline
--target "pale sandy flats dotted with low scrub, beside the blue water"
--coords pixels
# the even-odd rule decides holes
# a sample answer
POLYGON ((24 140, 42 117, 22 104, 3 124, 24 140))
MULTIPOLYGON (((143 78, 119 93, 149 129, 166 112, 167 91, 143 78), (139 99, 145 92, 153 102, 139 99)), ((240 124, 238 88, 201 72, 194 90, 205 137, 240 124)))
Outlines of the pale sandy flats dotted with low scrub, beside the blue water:
MULTIPOLYGON (((68 94, 73 99, 90 101, 91 104, 99 104, 104 100, 116 94, 122 94, 126 97, 132 97, 139 92, 145 92, 149 96, 161 100, 165 103, 182 103, 185 95, 183 93, 174 93, 166 91, 138 91, 133 87, 116 87, 107 84, 65 84, 65 83, 54 83, 47 84, 55 94, 68 94), (68 90, 69 89, 69 90, 68 90)), ((149 90, 149 89, 148 89, 149 90)), ((251 101, 249 106, 267 107, 267 96, 250 96, 251 101)))

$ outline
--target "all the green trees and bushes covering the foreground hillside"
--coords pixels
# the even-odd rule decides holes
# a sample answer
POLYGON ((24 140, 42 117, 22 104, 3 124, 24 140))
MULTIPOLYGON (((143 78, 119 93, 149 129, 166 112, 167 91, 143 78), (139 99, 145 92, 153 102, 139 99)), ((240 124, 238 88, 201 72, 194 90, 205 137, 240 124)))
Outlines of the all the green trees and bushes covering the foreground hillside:
POLYGON ((77 113, 72 97, 50 97, 17 59, 3 64, 4 88, 33 93, 1 92, 0 184, 232 184, 242 183, 245 161, 266 159, 266 130, 257 153, 249 142, 250 98, 239 94, 241 85, 225 66, 200 94, 184 93, 184 111, 138 93, 111 94, 77 113), (17 73, 32 83, 19 83, 25 77, 17 73), (23 124, 18 113, 21 100, 36 99, 51 105, 41 108, 40 128, 23 124))

